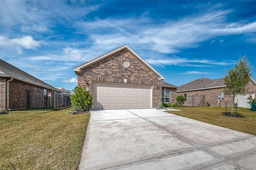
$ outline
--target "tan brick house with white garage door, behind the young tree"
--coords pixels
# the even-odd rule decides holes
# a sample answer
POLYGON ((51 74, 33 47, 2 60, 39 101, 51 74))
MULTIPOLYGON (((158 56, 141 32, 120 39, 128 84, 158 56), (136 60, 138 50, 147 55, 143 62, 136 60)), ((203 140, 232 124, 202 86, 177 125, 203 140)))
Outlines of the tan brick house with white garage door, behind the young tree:
MULTIPOLYGON (((201 99, 200 96, 204 96, 204 100, 202 99, 201 102, 204 105, 206 102, 210 102, 210 106, 225 106, 225 100, 227 98, 227 106, 231 106, 232 99, 229 95, 224 94, 224 99, 222 99, 222 101, 218 99, 218 97, 221 96, 221 93, 224 92, 225 86, 224 78, 215 80, 201 78, 179 86, 177 95, 182 94, 187 99, 184 104, 185 106, 192 106, 191 100, 188 100, 191 96, 193 96, 193 99, 201 99)), ((255 98, 256 82, 252 78, 246 89, 246 95, 236 95, 235 102, 238 101, 238 107, 250 107, 246 98, 248 98, 249 95, 252 95, 253 98, 255 98)))

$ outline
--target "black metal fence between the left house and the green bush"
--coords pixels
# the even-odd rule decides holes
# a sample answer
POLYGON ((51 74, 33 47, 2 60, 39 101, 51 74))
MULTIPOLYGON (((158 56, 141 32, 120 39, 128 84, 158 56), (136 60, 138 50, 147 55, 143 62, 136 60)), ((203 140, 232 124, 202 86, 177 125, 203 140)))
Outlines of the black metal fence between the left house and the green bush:
POLYGON ((70 95, 73 91, 47 92, 28 90, 28 108, 62 109, 72 106, 70 95))

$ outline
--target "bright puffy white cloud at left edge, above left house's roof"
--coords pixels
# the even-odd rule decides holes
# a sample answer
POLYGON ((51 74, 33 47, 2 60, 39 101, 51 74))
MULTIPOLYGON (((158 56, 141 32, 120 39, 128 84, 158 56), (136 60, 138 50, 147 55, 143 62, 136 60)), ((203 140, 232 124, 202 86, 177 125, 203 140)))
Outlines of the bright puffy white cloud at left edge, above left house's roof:
POLYGON ((22 36, 20 38, 9 39, 0 35, 0 46, 10 50, 16 50, 19 54, 22 54, 22 49, 33 49, 36 50, 40 47, 43 41, 36 41, 31 36, 22 36))

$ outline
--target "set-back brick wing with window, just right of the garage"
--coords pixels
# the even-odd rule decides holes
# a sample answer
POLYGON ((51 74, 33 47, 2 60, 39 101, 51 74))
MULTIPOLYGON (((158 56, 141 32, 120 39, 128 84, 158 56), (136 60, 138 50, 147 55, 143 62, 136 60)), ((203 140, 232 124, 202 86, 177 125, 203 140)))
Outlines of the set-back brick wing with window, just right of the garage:
POLYGON ((162 82, 162 103, 176 103, 176 90, 178 86, 162 82))

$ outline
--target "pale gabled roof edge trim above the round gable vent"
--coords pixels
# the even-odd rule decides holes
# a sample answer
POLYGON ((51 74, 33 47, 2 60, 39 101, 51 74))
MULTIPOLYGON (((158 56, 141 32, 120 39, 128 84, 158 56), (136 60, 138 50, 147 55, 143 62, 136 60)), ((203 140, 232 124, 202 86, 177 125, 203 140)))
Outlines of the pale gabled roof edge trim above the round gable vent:
POLYGON ((74 68, 74 72, 81 72, 81 70, 87 66, 90 66, 91 64, 94 64, 102 59, 105 59, 106 57, 113 55, 114 53, 118 53, 119 51, 122 51, 123 49, 127 49, 134 57, 136 57, 138 60, 140 60, 142 63, 144 63, 152 72, 154 72, 161 80, 164 80, 165 78, 157 72, 150 64, 148 64, 144 59, 142 59, 137 53, 135 53, 128 45, 123 45, 117 49, 114 49, 113 51, 110 51, 96 59, 93 59, 91 61, 88 61, 87 63, 84 63, 80 66, 77 66, 74 68))

